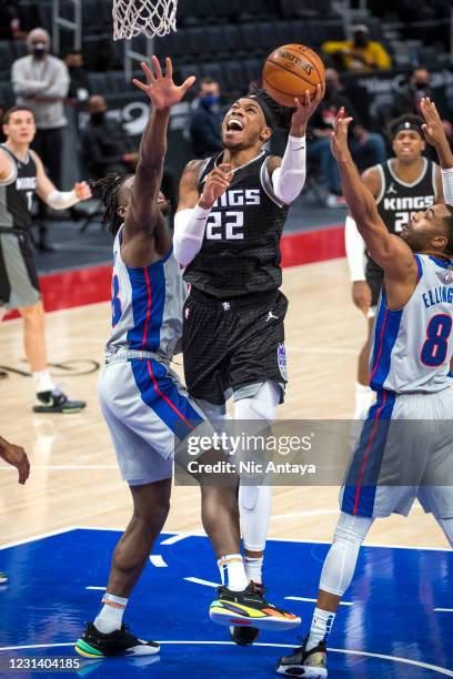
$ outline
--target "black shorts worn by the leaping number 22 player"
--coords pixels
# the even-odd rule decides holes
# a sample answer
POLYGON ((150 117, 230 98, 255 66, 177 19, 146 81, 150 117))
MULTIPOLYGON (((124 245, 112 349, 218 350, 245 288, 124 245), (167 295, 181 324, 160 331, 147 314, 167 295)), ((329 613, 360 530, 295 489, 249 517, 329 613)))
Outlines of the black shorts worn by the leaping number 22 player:
POLYGON ((243 398, 253 395, 253 385, 271 379, 280 384, 283 401, 286 308, 280 291, 220 301, 192 287, 182 333, 190 395, 221 405, 229 389, 243 398))

